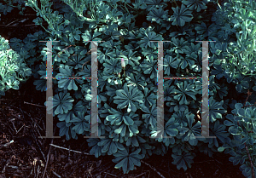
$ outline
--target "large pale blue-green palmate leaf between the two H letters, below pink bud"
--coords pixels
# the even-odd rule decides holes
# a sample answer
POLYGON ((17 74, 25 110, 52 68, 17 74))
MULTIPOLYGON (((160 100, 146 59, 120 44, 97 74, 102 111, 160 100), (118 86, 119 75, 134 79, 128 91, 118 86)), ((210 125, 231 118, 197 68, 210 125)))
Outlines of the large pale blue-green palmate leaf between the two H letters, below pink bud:
POLYGON ((139 108, 137 104, 143 103, 143 92, 137 87, 128 87, 125 83, 124 89, 117 90, 113 99, 113 102, 118 104, 119 109, 127 107, 127 112, 136 112, 139 108))

